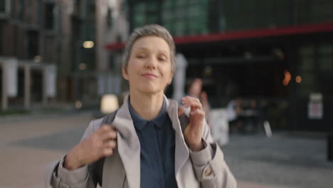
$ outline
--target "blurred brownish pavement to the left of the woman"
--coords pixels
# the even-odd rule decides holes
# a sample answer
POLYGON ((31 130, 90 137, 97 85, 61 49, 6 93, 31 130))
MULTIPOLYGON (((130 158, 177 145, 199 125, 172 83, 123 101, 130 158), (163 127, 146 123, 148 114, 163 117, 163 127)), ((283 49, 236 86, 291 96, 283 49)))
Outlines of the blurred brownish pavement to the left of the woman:
POLYGON ((0 122, 0 187, 44 187, 46 165, 80 141, 90 117, 81 113, 0 122))

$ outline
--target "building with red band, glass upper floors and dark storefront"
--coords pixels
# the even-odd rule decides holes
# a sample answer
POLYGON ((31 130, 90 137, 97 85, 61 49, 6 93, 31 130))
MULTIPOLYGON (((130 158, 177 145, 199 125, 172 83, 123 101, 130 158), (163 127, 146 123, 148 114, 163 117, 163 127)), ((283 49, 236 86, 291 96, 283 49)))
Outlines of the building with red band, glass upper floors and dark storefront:
MULTIPOLYGON (((126 1, 129 31, 159 23, 203 78, 213 108, 258 98, 277 128, 330 130, 333 1, 126 1), (314 116, 312 116, 314 114, 314 116)), ((105 46, 119 53, 123 43, 105 46)), ((170 92, 169 92, 170 93, 170 92)))

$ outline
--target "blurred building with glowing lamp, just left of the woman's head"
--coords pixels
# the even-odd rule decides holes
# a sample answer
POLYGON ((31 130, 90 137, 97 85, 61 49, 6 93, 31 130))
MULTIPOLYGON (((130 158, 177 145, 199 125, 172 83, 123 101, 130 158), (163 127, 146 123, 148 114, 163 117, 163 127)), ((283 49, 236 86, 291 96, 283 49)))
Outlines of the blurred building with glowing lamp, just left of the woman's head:
POLYGON ((68 100, 95 106, 105 93, 120 95, 119 53, 110 54, 105 43, 125 41, 128 24, 120 0, 74 1, 71 16, 72 63, 68 100))

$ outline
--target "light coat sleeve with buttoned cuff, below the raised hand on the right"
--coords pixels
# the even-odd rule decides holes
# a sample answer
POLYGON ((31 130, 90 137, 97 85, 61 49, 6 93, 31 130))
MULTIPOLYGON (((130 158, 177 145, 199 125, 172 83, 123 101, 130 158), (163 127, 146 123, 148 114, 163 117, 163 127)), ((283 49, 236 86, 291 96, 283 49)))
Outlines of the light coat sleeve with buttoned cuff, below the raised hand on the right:
POLYGON ((196 178, 203 188, 232 188, 237 182, 223 157, 220 147, 213 142, 210 129, 205 122, 203 126, 203 144, 205 149, 199 152, 190 150, 196 178))

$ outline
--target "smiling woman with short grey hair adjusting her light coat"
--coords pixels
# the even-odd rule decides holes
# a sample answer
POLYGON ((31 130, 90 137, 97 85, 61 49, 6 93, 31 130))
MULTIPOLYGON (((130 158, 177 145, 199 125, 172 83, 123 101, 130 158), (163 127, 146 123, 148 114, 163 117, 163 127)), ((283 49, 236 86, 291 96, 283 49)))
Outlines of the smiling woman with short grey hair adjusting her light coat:
POLYGON ((236 187, 199 100, 183 98, 191 108, 186 117, 164 95, 174 54, 162 26, 131 34, 122 66, 129 96, 116 113, 90 122, 83 140, 53 168, 52 187, 236 187))

